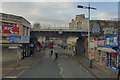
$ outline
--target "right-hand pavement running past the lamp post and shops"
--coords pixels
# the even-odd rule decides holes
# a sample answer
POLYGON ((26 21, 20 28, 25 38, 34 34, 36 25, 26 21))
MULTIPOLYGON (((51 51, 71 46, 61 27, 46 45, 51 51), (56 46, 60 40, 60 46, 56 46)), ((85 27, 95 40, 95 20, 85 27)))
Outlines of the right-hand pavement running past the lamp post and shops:
MULTIPOLYGON (((72 50, 68 50, 68 49, 65 52, 68 53, 69 55, 73 53, 72 50)), ((110 69, 109 67, 105 67, 96 61, 93 61, 93 68, 89 68, 88 65, 89 59, 85 55, 77 55, 73 57, 92 75, 96 76, 96 78, 117 78, 116 71, 110 69)))

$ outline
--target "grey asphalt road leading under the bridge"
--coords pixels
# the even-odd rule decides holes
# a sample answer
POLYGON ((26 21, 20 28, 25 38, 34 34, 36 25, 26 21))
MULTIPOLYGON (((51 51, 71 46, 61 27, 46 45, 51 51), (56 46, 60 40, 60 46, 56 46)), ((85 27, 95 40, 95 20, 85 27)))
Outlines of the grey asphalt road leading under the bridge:
POLYGON ((58 52, 58 60, 49 56, 50 50, 36 64, 24 70, 18 78, 94 78, 71 55, 65 54, 65 50, 55 48, 58 52))

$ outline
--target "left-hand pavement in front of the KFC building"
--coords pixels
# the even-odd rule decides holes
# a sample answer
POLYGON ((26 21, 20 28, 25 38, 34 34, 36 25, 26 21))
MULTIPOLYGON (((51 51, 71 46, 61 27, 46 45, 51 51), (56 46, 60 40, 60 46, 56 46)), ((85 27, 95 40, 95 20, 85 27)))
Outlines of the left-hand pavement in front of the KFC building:
POLYGON ((2 61, 2 77, 3 78, 15 77, 24 69, 31 67, 37 60, 41 58, 42 55, 44 55, 43 51, 37 52, 34 56, 26 57, 21 61, 18 60, 16 54, 14 54, 14 56, 6 55, 9 56, 10 58, 7 58, 4 55, 2 61))

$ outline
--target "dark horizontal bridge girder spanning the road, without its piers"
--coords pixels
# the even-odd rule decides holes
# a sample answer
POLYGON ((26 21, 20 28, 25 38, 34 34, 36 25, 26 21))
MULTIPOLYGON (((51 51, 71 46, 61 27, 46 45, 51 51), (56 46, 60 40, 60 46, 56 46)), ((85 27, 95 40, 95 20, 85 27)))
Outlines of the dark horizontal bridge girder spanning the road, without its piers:
POLYGON ((33 37, 82 37, 86 36, 87 32, 58 32, 58 31, 31 31, 31 36, 33 37))

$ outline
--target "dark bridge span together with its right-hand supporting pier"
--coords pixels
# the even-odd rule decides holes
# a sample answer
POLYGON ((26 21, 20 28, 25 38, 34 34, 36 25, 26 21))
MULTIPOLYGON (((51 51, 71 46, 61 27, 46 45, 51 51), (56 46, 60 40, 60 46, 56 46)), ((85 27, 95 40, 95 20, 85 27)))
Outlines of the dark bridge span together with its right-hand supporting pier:
POLYGON ((87 32, 62 32, 62 34, 60 34, 58 31, 31 31, 32 37, 46 37, 46 40, 49 40, 50 37, 61 38, 65 43, 69 37, 78 37, 75 46, 77 54, 81 54, 85 50, 86 46, 84 43, 87 40, 87 34, 87 32))

